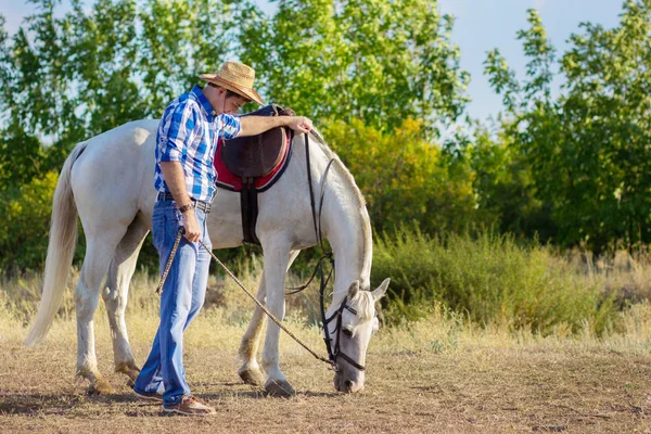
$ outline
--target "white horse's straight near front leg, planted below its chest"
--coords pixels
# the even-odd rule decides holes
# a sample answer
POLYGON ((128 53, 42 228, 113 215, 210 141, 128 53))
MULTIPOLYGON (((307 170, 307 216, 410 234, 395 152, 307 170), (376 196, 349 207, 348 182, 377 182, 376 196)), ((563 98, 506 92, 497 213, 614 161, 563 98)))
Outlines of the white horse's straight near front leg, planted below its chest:
MULTIPOLYGON (((267 292, 267 308, 280 321, 284 318, 284 282, 290 259, 290 245, 284 240, 265 240, 265 289, 267 292)), ((279 357, 280 328, 269 321, 265 349, 263 352, 263 368, 268 379, 265 390, 272 396, 292 396, 296 392, 288 382, 280 369, 279 357)))

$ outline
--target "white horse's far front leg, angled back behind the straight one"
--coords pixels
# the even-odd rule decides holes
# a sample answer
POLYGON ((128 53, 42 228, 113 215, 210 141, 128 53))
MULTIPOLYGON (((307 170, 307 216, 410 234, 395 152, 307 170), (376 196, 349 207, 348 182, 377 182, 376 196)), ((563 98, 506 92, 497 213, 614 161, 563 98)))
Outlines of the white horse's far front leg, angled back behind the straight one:
MULTIPOLYGON (((292 266, 294 259, 301 251, 293 251, 290 253, 288 268, 286 271, 292 266)), ((257 299, 260 303, 265 303, 266 290, 265 290, 265 273, 263 272, 263 278, 260 279, 260 285, 257 293, 257 299)), ((267 320, 267 315, 260 309, 258 305, 255 305, 255 310, 253 311, 253 317, 251 318, 251 322, 248 323, 248 328, 242 336, 242 341, 240 343, 240 359, 242 360, 242 366, 238 369, 238 374, 244 381, 244 383, 260 386, 265 382, 265 375, 260 371, 260 367, 256 360, 256 354, 258 349, 258 345, 260 342, 260 336, 263 332, 263 327, 265 326, 265 321, 267 320)))

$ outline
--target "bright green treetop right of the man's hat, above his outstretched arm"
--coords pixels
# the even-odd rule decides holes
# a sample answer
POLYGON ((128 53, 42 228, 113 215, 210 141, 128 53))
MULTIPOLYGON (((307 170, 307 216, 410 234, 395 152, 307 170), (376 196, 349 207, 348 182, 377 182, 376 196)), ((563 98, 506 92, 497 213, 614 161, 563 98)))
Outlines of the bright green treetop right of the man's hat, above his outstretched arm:
POLYGON ((268 18, 241 9, 242 60, 265 93, 317 119, 361 119, 383 131, 407 118, 426 132, 459 117, 469 75, 436 1, 281 0, 268 18))

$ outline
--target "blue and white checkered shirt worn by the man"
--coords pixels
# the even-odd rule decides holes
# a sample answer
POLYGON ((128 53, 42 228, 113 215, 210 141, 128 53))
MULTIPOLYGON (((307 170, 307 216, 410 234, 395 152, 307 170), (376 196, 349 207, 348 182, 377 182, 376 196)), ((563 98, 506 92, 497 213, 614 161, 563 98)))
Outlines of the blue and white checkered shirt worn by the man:
POLYGON ((180 162, 190 197, 210 202, 217 176, 213 165, 217 139, 233 139, 240 130, 240 119, 228 114, 215 116, 201 88, 194 86, 165 108, 158 124, 154 188, 169 192, 159 163, 180 162))

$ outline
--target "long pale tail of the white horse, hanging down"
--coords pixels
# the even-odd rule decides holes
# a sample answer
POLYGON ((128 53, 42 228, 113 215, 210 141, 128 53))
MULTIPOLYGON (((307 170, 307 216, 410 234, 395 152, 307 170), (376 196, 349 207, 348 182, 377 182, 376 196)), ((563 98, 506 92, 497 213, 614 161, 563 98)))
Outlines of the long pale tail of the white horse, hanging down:
POLYGON ((43 277, 43 293, 41 296, 36 319, 25 340, 25 345, 39 344, 61 306, 63 294, 73 264, 73 256, 77 245, 77 205, 73 196, 71 173, 75 161, 81 155, 88 142, 79 143, 66 158, 52 202, 52 220, 50 221, 50 241, 46 258, 46 272, 43 277))

